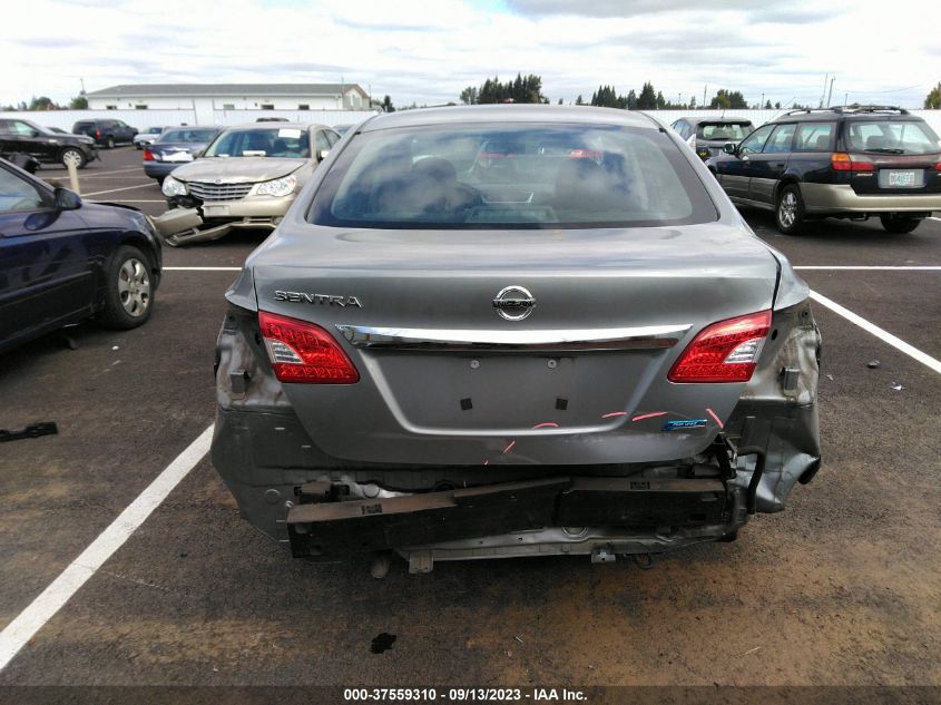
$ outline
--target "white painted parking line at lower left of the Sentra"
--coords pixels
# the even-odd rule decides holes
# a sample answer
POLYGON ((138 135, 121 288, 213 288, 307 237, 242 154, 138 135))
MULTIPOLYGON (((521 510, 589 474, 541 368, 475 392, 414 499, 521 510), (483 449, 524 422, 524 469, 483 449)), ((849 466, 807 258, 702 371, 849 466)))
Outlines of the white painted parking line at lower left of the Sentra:
POLYGON ((59 577, 0 633, 0 670, 49 621, 72 595, 117 551, 150 513, 160 506, 209 450, 213 427, 184 450, 157 476, 59 577))

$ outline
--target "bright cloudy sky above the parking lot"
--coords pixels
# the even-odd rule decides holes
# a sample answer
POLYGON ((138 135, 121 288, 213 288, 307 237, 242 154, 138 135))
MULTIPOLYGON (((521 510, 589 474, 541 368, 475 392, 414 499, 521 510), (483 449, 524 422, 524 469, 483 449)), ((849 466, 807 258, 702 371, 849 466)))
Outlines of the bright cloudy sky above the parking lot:
POLYGON ((921 107, 941 81, 941 0, 30 0, 3 9, 0 104, 126 82, 359 82, 396 105, 488 76, 552 102, 653 81, 669 100, 921 107), (829 85, 827 85, 829 89, 829 85))

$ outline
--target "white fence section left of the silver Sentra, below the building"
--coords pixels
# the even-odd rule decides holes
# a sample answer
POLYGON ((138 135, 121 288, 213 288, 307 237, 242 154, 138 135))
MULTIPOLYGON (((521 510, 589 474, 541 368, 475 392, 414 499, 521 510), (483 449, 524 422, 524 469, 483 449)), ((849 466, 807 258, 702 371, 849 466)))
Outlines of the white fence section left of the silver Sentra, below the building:
MULTIPOLYGON (((213 110, 214 125, 242 125, 259 117, 283 117, 297 123, 349 125, 359 123, 374 112, 369 110, 213 110)), ((157 125, 196 125, 194 110, 19 110, 0 112, 0 118, 22 118, 46 127, 71 130, 78 120, 124 120, 131 127, 144 129, 157 125)))

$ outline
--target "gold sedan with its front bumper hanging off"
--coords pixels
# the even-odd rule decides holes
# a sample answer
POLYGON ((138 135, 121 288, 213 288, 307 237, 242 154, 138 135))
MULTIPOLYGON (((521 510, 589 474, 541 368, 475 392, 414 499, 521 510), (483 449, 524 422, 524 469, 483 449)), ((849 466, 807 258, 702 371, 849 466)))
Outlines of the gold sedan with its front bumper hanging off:
POLYGON ((274 229, 339 139, 325 125, 231 127, 164 179, 170 210, 155 224, 173 246, 218 239, 233 228, 274 229))

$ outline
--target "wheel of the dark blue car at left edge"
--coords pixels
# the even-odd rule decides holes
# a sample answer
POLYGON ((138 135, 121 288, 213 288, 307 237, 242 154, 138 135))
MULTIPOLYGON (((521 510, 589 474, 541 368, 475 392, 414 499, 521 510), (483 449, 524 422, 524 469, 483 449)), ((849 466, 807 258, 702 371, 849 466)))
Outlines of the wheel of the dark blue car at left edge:
POLYGON ((101 325, 126 331, 141 325, 154 310, 150 257, 134 245, 121 245, 108 263, 101 325))

